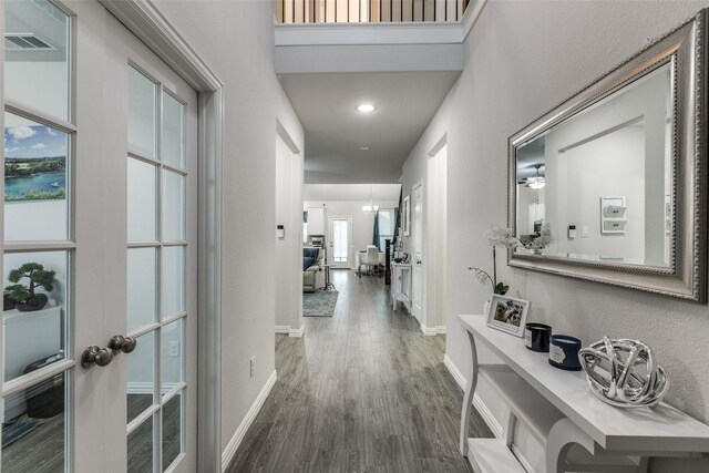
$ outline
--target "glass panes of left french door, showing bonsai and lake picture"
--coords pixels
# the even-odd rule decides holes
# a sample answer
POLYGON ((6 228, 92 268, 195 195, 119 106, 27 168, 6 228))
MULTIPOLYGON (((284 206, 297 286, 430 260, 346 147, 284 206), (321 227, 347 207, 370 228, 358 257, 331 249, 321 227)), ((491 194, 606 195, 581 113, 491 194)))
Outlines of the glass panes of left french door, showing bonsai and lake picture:
POLYGON ((6 0, 2 457, 8 473, 70 471, 76 127, 73 18, 6 0))

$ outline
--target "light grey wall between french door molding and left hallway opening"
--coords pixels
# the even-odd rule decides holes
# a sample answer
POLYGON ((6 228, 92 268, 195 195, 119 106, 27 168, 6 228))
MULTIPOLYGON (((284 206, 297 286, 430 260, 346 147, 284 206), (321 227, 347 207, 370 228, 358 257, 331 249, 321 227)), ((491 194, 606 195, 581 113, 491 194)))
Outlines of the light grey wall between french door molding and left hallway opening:
POLYGON ((304 133, 274 72, 275 2, 156 2, 224 82, 222 445, 275 369, 276 128, 304 133), (256 374, 249 377, 249 358, 256 374))

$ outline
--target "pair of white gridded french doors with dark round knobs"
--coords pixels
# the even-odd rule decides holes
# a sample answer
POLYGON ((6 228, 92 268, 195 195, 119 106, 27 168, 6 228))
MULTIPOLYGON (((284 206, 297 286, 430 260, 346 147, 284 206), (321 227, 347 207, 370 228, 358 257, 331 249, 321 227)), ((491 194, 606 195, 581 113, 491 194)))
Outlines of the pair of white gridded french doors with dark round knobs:
POLYGON ((194 472, 196 93, 95 1, 2 16, 0 466, 194 472))

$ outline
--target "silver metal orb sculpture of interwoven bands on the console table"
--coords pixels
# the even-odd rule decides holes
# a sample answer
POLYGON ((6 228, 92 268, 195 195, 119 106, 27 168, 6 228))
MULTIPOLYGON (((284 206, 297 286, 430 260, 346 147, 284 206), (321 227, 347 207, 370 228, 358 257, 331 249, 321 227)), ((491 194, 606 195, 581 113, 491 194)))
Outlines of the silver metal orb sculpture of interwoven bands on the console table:
POLYGON ((604 337, 578 358, 594 394, 616 408, 651 408, 669 390, 669 378, 641 341, 604 337))

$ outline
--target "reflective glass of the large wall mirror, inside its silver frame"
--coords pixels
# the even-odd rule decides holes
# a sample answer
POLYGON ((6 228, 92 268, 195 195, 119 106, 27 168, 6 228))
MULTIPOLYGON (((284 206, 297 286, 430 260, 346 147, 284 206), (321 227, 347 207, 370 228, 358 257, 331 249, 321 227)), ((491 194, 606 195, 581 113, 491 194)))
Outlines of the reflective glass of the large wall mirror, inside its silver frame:
POLYGON ((671 265, 671 63, 515 148, 518 254, 671 265))

